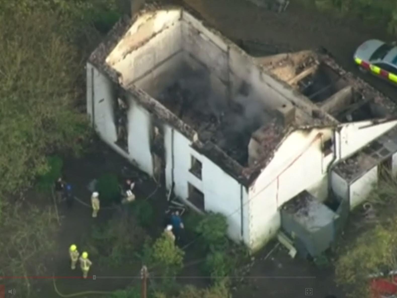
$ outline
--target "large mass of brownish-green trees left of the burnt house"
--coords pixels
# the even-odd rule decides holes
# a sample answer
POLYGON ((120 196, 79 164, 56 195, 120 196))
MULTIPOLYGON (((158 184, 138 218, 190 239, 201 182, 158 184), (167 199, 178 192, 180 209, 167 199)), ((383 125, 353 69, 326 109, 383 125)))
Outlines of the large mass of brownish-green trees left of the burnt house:
POLYGON ((0 194, 45 174, 48 153, 81 153, 84 63, 128 3, 0 0, 0 194))

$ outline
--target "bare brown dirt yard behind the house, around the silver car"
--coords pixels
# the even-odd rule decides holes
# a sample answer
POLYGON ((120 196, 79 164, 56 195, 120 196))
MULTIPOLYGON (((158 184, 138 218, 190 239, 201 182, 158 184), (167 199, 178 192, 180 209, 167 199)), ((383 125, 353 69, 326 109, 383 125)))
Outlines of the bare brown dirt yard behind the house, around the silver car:
POLYGON ((353 64, 352 55, 360 43, 378 38, 390 41, 383 28, 364 26, 355 20, 342 20, 304 8, 291 0, 281 14, 270 12, 244 0, 183 0, 210 25, 232 40, 257 40, 292 50, 324 46, 347 70, 397 100, 397 88, 376 77, 362 75, 353 64))

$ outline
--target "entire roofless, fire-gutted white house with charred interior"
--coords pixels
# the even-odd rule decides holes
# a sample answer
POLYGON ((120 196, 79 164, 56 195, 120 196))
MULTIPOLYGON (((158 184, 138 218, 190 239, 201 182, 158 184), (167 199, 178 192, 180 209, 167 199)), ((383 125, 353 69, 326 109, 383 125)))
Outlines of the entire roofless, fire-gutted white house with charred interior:
POLYGON ((283 204, 304 190, 324 200, 333 166, 397 124, 395 105, 328 54, 253 58, 177 7, 108 33, 87 62, 87 112, 103 141, 198 212, 223 213, 251 250, 278 232, 283 204))

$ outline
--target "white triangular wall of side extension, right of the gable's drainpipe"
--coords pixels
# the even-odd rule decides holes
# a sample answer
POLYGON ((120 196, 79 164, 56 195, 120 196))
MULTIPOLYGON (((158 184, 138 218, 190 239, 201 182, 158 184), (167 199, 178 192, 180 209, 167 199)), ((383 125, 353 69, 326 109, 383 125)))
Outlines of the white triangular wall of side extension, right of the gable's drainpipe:
POLYGON ((352 122, 341 124, 339 137, 341 140, 340 158, 345 159, 361 149, 380 135, 384 134, 397 124, 397 120, 383 124, 372 124, 372 121, 352 122), (372 125, 372 126, 371 126, 372 125))

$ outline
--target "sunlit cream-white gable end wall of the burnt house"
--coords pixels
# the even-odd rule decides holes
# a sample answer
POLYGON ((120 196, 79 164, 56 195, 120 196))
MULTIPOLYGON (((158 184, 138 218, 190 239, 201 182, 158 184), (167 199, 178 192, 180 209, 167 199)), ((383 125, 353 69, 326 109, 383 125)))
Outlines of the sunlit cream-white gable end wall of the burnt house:
POLYGON ((321 142, 331 134, 331 129, 293 132, 262 170, 249 190, 250 244, 253 250, 260 248, 278 231, 279 207, 283 203, 303 190, 327 189, 324 168, 331 163, 332 154, 324 158, 321 142))

